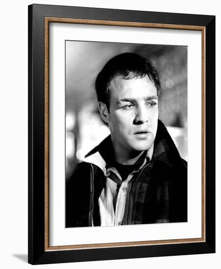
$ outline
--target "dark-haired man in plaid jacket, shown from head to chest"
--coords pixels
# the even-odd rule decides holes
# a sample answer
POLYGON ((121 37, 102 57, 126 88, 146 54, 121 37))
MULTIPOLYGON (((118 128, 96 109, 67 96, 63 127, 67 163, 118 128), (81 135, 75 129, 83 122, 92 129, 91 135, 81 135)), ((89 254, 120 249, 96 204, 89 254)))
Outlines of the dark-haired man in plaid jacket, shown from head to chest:
POLYGON ((105 138, 66 184, 66 227, 187 222, 187 165, 158 120, 156 68, 135 53, 112 58, 96 92, 105 138))

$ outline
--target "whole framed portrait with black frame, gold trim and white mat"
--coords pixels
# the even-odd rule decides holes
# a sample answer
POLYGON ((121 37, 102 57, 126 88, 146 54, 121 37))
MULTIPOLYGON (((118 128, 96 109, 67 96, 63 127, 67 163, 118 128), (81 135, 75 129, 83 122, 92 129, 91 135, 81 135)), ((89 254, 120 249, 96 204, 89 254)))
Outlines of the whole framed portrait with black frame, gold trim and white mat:
POLYGON ((28 263, 215 252, 215 16, 28 6, 28 263))

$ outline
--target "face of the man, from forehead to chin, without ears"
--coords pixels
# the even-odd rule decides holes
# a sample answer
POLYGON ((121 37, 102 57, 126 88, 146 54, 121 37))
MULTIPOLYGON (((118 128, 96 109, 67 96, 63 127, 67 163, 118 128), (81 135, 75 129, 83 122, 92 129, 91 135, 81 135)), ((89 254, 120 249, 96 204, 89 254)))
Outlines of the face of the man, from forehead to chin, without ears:
POLYGON ((111 83, 108 124, 115 151, 133 154, 148 150, 155 139, 158 97, 154 83, 144 78, 115 77, 111 83))

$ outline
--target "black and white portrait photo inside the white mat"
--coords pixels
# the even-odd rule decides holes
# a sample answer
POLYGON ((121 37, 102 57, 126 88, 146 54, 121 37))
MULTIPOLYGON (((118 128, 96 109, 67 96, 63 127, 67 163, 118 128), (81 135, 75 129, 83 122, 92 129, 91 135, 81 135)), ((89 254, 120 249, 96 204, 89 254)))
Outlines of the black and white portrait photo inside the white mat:
POLYGON ((66 41, 66 227, 187 222, 187 120, 186 46, 66 41))

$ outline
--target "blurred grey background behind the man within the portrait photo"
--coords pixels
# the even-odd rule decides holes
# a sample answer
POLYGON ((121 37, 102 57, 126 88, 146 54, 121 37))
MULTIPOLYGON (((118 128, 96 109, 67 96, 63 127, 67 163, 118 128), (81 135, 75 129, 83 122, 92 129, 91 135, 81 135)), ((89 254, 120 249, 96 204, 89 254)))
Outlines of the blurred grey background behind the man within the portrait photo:
POLYGON ((66 178, 108 134, 98 112, 95 79, 115 55, 135 52, 157 68, 159 119, 187 160, 187 46, 66 41, 66 178))

